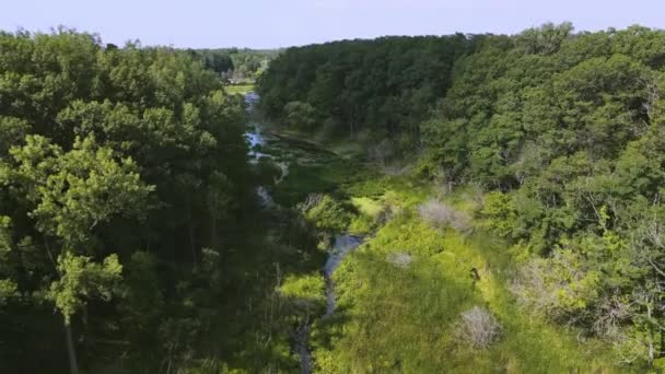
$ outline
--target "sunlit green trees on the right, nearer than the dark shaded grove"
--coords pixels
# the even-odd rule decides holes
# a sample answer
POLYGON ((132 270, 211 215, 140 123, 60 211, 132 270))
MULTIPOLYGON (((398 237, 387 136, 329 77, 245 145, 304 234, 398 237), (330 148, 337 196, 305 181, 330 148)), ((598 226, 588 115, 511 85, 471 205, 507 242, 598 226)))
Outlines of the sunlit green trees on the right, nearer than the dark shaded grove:
MULTIPOLYGON (((457 62, 448 94, 423 124, 421 172, 492 190, 480 212, 487 226, 542 256, 516 283, 527 309, 653 352, 656 330, 640 322, 655 300, 644 292, 661 294, 646 284, 662 273, 639 269, 661 269, 663 255, 660 234, 646 239, 641 227, 658 226, 665 164, 655 140, 662 63, 645 44, 664 44, 665 34, 571 34, 570 24, 547 24, 511 42, 489 38, 457 62)), ((618 354, 654 360, 638 351, 618 354)))

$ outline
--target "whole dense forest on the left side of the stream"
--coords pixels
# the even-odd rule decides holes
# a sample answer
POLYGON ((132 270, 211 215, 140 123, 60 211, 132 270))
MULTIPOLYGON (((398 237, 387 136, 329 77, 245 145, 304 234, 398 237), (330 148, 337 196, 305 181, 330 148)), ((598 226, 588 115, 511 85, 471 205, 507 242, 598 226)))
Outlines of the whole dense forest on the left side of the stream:
POLYGON ((246 121, 186 52, 0 34, 0 372, 275 364, 257 274, 310 236, 261 242, 246 121))

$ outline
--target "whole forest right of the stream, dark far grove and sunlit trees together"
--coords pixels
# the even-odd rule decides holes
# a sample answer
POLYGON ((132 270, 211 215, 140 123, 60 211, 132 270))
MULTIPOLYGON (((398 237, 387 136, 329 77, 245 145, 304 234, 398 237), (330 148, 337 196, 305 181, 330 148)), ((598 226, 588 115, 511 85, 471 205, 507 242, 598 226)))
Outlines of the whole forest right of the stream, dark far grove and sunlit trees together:
MULTIPOLYGON (((514 313, 608 343, 614 363, 634 365, 665 354, 664 86, 665 32, 573 33, 565 23, 291 48, 258 92, 287 130, 347 133, 341 142, 360 142, 370 160, 415 160, 406 173, 439 185, 439 200, 471 188, 476 230, 504 241, 495 250, 510 261, 506 289, 523 311, 514 313)), ((421 207, 423 219, 464 226, 439 200, 421 207)), ((353 307, 368 303, 358 297, 353 307)), ((350 360, 368 359, 372 348, 348 350, 354 339, 372 344, 363 334, 388 339, 346 326, 347 349, 331 352, 350 360)), ((369 357, 393 362, 386 354, 369 357)))

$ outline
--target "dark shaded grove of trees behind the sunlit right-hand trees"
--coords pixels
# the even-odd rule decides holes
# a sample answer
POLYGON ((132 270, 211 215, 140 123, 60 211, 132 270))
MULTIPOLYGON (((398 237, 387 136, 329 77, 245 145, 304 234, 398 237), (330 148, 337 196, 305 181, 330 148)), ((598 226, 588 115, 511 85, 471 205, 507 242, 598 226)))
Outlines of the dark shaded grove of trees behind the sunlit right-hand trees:
POLYGON ((445 94, 454 60, 469 45, 458 34, 289 48, 258 81, 260 106, 269 117, 292 124, 289 103, 307 104, 313 110, 306 112, 322 119, 312 125, 323 126, 326 118, 335 125, 328 132, 348 131, 353 137, 371 129, 395 138, 402 132, 417 137, 419 121, 445 94))

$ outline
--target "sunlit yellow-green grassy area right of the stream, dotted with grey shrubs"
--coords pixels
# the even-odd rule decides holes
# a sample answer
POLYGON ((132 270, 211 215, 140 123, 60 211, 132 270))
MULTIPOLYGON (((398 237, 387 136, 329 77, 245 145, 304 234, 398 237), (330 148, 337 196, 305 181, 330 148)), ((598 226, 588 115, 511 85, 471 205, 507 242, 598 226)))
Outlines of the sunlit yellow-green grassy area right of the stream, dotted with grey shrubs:
MULTIPOLYGON (((317 324, 312 339, 318 372, 617 371, 607 347, 579 343, 574 331, 517 307, 506 288, 511 258, 504 243, 478 230, 464 236, 423 223, 415 207, 431 194, 428 188, 404 178, 378 178, 346 190, 365 206, 366 199, 359 198, 390 201, 401 210, 335 273, 339 309, 317 324), (394 253, 411 255, 411 264, 392 264, 394 253), (472 267, 481 276, 476 284, 472 267), (459 313, 474 305, 490 308, 503 325, 501 340, 485 351, 454 338, 459 313)), ((446 200, 472 210, 471 195, 446 200)))

